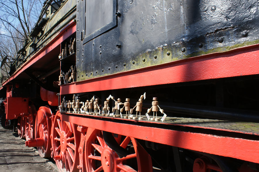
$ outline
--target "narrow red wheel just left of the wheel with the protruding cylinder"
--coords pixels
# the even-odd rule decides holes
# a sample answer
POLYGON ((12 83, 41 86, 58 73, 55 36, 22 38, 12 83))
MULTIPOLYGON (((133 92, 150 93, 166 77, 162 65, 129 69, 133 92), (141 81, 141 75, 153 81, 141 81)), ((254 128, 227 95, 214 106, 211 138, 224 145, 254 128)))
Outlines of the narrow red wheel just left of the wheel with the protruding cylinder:
POLYGON ((29 106, 28 114, 24 117, 24 128, 26 141, 34 138, 34 122, 36 108, 34 105, 29 106))

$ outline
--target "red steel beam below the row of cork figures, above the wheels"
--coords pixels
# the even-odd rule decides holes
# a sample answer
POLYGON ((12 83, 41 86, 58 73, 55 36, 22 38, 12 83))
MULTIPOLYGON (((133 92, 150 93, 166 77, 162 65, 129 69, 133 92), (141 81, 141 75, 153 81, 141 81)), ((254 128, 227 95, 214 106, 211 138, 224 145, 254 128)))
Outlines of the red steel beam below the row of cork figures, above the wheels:
POLYGON ((61 115, 61 119, 81 126, 96 128, 138 139, 159 142, 189 150, 232 157, 259 163, 259 141, 222 137, 210 134, 182 132, 132 124, 61 115))

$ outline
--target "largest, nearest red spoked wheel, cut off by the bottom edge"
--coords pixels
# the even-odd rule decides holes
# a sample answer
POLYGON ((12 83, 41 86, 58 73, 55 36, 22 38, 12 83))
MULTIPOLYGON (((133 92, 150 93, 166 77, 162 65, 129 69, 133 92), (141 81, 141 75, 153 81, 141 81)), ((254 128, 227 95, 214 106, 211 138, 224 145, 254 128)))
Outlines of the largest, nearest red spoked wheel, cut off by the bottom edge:
POLYGON ((129 150, 126 157, 119 158, 117 153, 107 146, 102 131, 87 128, 85 165, 88 172, 153 171, 150 155, 135 138, 116 135, 115 140, 121 147, 129 150))

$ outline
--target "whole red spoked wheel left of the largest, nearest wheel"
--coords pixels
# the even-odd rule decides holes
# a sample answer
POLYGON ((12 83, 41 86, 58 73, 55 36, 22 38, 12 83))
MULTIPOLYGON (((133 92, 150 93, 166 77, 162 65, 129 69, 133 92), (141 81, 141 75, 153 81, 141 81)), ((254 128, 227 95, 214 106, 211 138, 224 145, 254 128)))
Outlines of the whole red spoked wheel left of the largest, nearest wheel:
POLYGON ((62 121, 60 112, 57 112, 51 138, 54 160, 60 171, 79 171, 77 165, 79 164, 80 133, 76 129, 75 124, 62 121))

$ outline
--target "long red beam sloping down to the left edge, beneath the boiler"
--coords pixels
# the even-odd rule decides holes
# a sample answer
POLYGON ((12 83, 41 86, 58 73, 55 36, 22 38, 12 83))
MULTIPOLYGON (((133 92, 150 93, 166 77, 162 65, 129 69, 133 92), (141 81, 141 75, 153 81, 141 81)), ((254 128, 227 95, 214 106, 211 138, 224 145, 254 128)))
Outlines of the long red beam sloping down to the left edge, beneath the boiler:
MULTIPOLYGON (((20 67, 11 77, 9 77, 2 85, 4 86, 9 81, 12 81, 16 78, 20 73, 22 73, 25 69, 30 67, 33 63, 38 61, 41 58, 44 58, 51 50, 55 47, 59 46, 61 42, 63 42, 66 38, 71 36, 76 31, 76 22, 71 21, 65 28, 63 28, 60 33, 50 41, 45 47, 39 50, 35 55, 33 55, 22 67, 20 67)), ((58 58, 58 57, 56 57, 58 58)), ((0 89, 1 90, 1 89, 0 89)))

